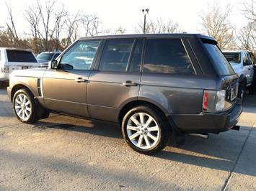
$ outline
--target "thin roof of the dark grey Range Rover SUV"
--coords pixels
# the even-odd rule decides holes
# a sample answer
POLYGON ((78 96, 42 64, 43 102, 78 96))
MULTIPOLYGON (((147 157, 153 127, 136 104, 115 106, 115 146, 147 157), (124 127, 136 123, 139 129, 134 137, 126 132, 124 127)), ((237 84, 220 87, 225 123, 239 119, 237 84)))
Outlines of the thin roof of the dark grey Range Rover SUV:
POLYGON ((213 37, 208 37, 202 34, 187 34, 187 33, 172 33, 172 34, 120 34, 120 35, 106 35, 106 36, 95 36, 95 37, 81 37, 80 39, 116 39, 116 38, 159 38, 159 37, 190 37, 190 38, 201 38, 216 41, 213 37))

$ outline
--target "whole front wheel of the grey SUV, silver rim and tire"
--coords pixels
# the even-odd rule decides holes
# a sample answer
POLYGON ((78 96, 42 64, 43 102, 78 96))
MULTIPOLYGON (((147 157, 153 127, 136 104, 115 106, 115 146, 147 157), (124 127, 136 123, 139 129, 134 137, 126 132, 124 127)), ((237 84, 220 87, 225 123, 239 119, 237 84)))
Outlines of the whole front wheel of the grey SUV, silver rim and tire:
POLYGON ((14 94, 12 106, 14 113, 26 124, 32 124, 38 120, 34 96, 27 89, 20 89, 14 94))

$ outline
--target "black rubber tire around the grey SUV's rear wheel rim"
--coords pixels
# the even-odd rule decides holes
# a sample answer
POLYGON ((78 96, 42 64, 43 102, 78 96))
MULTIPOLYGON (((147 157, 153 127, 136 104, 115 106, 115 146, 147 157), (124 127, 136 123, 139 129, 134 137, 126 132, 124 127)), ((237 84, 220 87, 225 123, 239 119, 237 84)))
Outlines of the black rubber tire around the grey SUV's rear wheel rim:
MULTIPOLYGON (((127 144, 131 146, 131 148, 136 152, 139 152, 141 154, 154 154, 156 152, 161 151, 162 149, 164 149, 165 146, 167 146, 171 136, 171 127, 169 126, 167 119, 164 116, 162 116, 162 113, 160 113, 157 110, 157 108, 154 108, 153 106, 150 106, 150 105, 143 105, 143 106, 136 106, 135 108, 132 108, 130 111, 128 111, 125 114, 122 121, 122 134, 127 144), (127 131, 128 121, 131 118, 131 116, 133 116, 136 113, 148 114, 149 116, 154 118, 154 121, 156 122, 157 126, 159 126, 159 131, 158 131, 159 139, 155 141, 156 143, 150 149, 141 149, 140 147, 133 144, 133 142, 128 137, 128 131, 127 131)), ((144 143, 146 144, 146 139, 145 138, 143 139, 144 139, 144 143)))

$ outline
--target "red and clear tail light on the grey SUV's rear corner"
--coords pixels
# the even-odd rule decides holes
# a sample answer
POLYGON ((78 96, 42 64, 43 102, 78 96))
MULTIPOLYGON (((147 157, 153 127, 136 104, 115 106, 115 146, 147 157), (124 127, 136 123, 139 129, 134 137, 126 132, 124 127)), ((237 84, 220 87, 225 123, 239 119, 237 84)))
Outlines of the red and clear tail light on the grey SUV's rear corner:
POLYGON ((226 90, 204 90, 203 111, 219 112, 226 109, 226 90))

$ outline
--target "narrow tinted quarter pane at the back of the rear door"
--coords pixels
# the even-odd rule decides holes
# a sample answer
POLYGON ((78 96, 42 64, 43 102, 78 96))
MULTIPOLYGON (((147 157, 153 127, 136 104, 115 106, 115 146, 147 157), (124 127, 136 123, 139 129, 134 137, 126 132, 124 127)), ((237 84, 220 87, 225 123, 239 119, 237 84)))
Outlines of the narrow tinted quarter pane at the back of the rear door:
POLYGON ((138 39, 133 50, 129 72, 138 73, 141 70, 141 55, 142 55, 143 39, 138 39))

